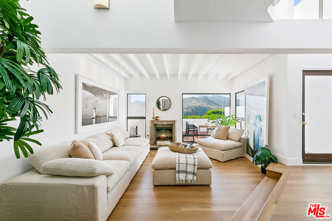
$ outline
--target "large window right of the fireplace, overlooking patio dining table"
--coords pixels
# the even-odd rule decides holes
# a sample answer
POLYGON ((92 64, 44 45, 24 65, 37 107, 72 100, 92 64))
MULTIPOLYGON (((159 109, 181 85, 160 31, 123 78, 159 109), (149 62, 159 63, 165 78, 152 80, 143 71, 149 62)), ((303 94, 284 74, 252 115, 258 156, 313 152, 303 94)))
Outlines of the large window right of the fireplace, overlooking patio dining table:
POLYGON ((230 115, 230 93, 182 94, 182 140, 209 137, 215 125, 204 123, 213 113, 230 115))

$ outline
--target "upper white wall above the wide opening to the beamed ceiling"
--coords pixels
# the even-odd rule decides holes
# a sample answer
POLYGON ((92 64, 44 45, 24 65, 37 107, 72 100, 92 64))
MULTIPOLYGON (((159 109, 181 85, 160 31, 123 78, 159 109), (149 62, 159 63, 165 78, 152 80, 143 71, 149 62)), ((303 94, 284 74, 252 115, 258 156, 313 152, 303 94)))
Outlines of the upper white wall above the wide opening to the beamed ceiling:
POLYGON ((174 22, 172 0, 110 0, 110 10, 95 10, 93 1, 82 0, 20 3, 31 8, 29 13, 43 36, 42 46, 52 53, 124 53, 122 49, 128 49, 127 53, 135 53, 133 49, 151 53, 154 48, 173 53, 177 49, 311 53, 306 49, 332 48, 332 29, 326 28, 332 26, 331 20, 174 22))

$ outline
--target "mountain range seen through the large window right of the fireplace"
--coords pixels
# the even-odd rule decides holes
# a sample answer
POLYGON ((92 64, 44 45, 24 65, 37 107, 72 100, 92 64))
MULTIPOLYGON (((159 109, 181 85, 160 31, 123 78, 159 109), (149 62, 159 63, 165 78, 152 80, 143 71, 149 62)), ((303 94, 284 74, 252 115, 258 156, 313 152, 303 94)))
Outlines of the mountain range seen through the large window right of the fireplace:
POLYGON ((229 97, 220 95, 201 95, 199 97, 186 97, 182 100, 184 116, 203 116, 208 110, 229 107, 229 97))

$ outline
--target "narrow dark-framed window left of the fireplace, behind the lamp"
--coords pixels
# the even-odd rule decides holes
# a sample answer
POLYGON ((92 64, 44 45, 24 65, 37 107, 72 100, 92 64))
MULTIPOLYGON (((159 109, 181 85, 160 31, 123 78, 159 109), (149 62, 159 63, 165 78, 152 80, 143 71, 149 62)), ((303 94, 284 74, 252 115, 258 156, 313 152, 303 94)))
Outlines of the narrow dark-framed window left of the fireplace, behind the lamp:
POLYGON ((127 94, 127 131, 130 136, 145 138, 146 94, 127 94))

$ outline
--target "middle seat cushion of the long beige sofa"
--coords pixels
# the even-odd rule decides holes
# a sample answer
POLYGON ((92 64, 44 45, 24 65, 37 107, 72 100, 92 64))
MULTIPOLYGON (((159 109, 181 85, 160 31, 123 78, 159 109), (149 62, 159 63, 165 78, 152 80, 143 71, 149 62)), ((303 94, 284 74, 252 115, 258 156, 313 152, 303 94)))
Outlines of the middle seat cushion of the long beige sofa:
POLYGON ((103 152, 103 160, 125 160, 133 164, 141 153, 139 146, 117 146, 103 152))

